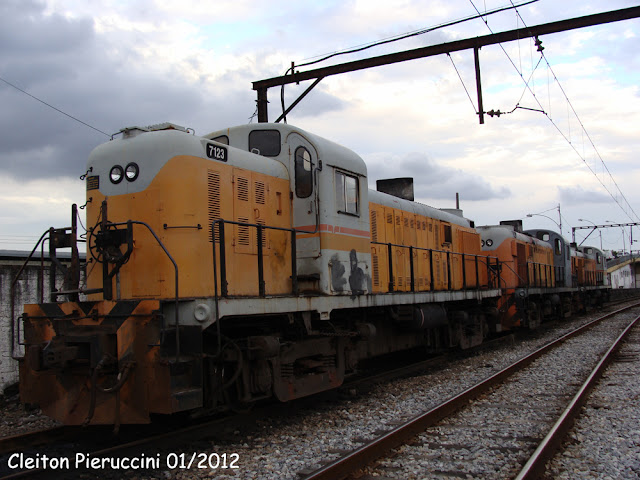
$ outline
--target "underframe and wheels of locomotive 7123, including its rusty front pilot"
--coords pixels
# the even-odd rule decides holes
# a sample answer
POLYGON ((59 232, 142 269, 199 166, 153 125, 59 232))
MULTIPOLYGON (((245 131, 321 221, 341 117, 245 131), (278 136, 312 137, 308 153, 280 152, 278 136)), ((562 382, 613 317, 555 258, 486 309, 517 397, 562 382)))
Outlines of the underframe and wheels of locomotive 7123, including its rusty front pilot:
MULTIPOLYGON (((318 310, 289 311, 178 328, 172 301, 33 305, 23 315, 21 396, 65 424, 145 423, 154 413, 289 401, 341 385, 364 359, 481 343, 494 298, 458 298, 405 305, 378 298, 370 299, 374 307, 331 309, 326 319, 318 310)), ((283 308, 282 298, 271 300, 283 308)))

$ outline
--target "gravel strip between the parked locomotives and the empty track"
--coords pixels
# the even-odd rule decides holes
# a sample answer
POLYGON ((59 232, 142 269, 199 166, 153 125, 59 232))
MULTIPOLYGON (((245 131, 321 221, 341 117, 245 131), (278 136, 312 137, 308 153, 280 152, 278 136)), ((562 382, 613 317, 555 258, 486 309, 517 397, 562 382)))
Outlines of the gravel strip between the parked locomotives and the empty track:
MULTIPOLYGON (((345 400, 331 409, 294 414, 276 422, 267 419, 256 432, 237 432, 241 437, 238 441, 230 439, 229 442, 211 443, 208 448, 199 450, 205 453, 238 453, 238 470, 173 469, 170 474, 178 479, 210 478, 213 475, 220 479, 296 479, 298 472, 332 460, 344 450, 358 447, 360 440, 374 438, 381 424, 387 423, 391 429, 399 419, 436 406, 526 352, 557 338, 559 331, 566 332, 570 326, 584 322, 585 319, 573 320, 535 340, 455 361, 434 374, 380 385, 365 397, 345 400)), ((192 450, 184 450, 187 455, 190 452, 192 450)), ((417 471, 420 471, 419 466, 417 471)), ((403 473, 398 474, 396 478, 405 478, 403 473)), ((384 475, 394 478, 393 470, 386 470, 384 475)), ((140 478, 162 477, 154 474, 140 478)), ((416 478, 420 478, 419 475, 416 478)))

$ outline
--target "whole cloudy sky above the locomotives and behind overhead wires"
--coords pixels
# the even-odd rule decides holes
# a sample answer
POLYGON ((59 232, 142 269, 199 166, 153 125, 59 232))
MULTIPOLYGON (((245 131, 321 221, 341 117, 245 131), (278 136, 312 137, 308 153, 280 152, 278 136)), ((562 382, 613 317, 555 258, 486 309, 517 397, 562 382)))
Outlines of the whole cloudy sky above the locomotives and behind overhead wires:
MULTIPOLYGON (((539 0, 520 17, 510 10, 488 26, 471 20, 318 66, 637 3, 539 0)), ((247 123, 251 82, 292 61, 470 17, 474 4, 485 12, 510 0, 0 1, 0 249, 30 249, 48 227, 69 224, 71 203, 84 203, 89 152, 120 128, 171 121, 206 134, 247 123)), ((530 39, 484 47, 485 110, 513 110, 484 125, 471 51, 326 78, 288 122, 359 153, 371 186, 412 176, 416 198, 439 208, 459 192, 478 225, 562 220, 570 237, 589 225, 579 219, 640 221, 638 35, 640 20, 546 35, 541 62, 530 39)), ((287 86, 287 101, 307 86, 287 86)), ((269 90, 272 120, 279 97, 269 90)), ((621 250, 621 229, 603 231, 602 245, 621 250)))

